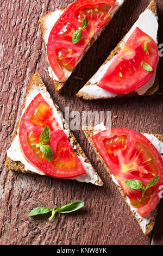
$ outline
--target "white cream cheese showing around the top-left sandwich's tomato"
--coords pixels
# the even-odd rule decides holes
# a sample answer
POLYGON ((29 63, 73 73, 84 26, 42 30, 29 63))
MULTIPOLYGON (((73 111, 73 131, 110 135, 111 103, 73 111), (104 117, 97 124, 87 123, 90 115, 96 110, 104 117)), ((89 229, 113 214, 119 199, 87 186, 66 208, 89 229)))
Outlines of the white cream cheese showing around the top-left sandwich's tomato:
MULTIPOLYGON (((124 0, 117 0, 115 3, 114 8, 112 9, 110 16, 111 18, 114 16, 114 14, 116 13, 116 11, 118 10, 118 8, 121 7, 121 5, 123 4, 124 0)), ((64 13, 64 10, 55 10, 52 13, 49 13, 49 15, 46 17, 45 21, 44 21, 44 27, 45 27, 45 32, 43 33, 43 40, 45 41, 45 45, 47 48, 47 43, 48 43, 48 38, 49 38, 49 34, 51 33, 51 30, 53 28, 53 26, 55 25, 55 22, 57 22, 57 20, 59 19, 59 17, 62 15, 62 13, 64 13)), ((97 40, 98 36, 101 34, 101 32, 103 31, 103 28, 99 29, 99 31, 96 33, 96 35, 93 37, 93 40, 97 40)), ((84 53, 87 51, 87 49, 90 47, 90 44, 87 45, 86 49, 84 50, 82 56, 80 56, 80 58, 78 59, 78 62, 76 63, 76 65, 80 62, 80 60, 83 58, 84 53)), ((51 66, 49 66, 48 71, 49 71, 49 76, 52 77, 53 80, 59 81, 59 82, 65 82, 68 77, 70 77, 70 75, 72 74, 71 71, 66 70, 64 67, 62 67, 62 70, 64 71, 65 77, 62 80, 59 80, 58 77, 55 75, 54 70, 52 70, 51 66)))

